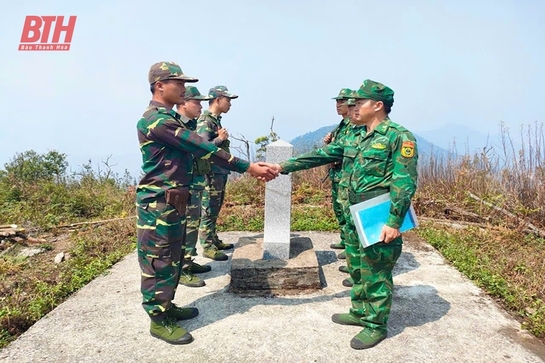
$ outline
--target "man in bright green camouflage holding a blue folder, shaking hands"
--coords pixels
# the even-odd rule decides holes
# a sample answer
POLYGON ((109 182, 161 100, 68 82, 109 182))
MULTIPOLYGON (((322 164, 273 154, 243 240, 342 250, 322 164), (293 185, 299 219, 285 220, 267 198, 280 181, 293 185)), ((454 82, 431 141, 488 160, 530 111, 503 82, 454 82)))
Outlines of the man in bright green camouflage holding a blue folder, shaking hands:
POLYGON ((338 324, 362 326, 350 342, 354 349, 371 348, 386 338, 392 304, 392 269, 402 250, 399 228, 417 185, 416 139, 389 118, 394 92, 365 80, 356 95, 355 127, 344 145, 332 142, 321 149, 291 158, 277 170, 283 174, 342 160, 349 204, 388 193, 391 208, 380 242, 362 248, 351 214, 345 206, 346 254, 354 286, 349 313, 334 314, 338 324))

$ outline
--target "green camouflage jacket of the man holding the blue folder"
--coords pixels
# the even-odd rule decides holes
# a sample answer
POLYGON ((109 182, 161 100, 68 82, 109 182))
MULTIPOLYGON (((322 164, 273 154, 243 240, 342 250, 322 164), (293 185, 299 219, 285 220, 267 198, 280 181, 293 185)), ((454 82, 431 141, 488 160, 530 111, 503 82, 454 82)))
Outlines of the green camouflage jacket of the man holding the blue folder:
MULTIPOLYGON (((410 131, 386 118, 369 135, 364 126, 354 127, 344 143, 332 142, 280 165, 282 174, 287 174, 333 161, 342 161, 341 183, 355 199, 389 191, 392 205, 385 223, 401 226, 418 177, 416 139, 410 131)), ((351 204, 356 202, 351 198, 351 204)))

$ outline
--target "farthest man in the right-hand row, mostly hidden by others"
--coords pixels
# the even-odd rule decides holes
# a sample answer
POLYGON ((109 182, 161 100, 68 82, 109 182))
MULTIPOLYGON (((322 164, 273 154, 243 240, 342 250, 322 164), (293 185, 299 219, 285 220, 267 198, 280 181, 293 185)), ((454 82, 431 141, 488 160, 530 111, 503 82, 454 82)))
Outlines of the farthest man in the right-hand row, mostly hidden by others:
MULTIPOLYGON (((350 88, 343 88, 340 90, 339 95, 333 99, 336 101, 337 114, 342 116, 341 122, 326 135, 324 138, 324 143, 329 144, 331 142, 342 143, 344 137, 350 129, 350 119, 348 118, 348 105, 346 101, 350 98, 352 90, 350 88)), ((344 228, 344 215, 341 205, 338 201, 338 190, 339 190, 339 181, 341 179, 341 162, 331 163, 329 168, 329 179, 331 180, 331 200, 333 203, 333 211, 335 212, 335 217, 339 222, 339 227, 341 230, 341 241, 339 243, 332 243, 331 248, 344 250, 345 240, 343 234, 344 228)), ((337 255, 340 259, 346 259, 346 254, 341 252, 337 255)))

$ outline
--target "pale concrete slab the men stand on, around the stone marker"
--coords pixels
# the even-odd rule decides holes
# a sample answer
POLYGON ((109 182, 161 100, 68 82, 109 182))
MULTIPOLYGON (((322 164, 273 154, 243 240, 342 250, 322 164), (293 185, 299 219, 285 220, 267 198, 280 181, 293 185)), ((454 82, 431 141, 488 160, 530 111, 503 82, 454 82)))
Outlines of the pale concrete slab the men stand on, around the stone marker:
MULTIPOLYGON (((219 233, 225 243, 253 235, 258 237, 248 231, 219 233)), ((197 245, 195 261, 212 267, 199 274, 206 286, 179 285, 174 301, 199 309, 199 316, 179 323, 195 341, 168 344, 149 333, 134 251, 0 349, 0 363, 168 363, 181 357, 199 363, 545 362, 542 341, 412 231, 403 236, 393 271, 388 337, 371 349, 352 349, 350 340, 361 329, 331 321, 332 314, 350 309, 350 291, 342 285, 347 275, 338 270, 346 261, 329 248, 339 234, 301 232, 300 237, 312 240, 327 280, 314 294, 227 293, 231 250, 228 261, 213 261, 197 245)))

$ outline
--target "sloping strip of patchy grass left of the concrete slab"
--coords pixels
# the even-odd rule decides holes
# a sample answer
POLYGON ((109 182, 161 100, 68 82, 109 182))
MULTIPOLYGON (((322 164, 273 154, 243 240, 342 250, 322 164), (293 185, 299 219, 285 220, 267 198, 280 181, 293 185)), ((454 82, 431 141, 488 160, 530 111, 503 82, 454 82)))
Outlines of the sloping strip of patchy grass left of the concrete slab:
POLYGON ((132 251, 134 235, 134 220, 125 219, 73 233, 43 234, 47 251, 32 257, 1 256, 0 347, 132 251), (68 253, 68 259, 57 265, 59 252, 68 253))

